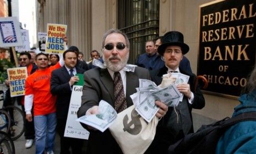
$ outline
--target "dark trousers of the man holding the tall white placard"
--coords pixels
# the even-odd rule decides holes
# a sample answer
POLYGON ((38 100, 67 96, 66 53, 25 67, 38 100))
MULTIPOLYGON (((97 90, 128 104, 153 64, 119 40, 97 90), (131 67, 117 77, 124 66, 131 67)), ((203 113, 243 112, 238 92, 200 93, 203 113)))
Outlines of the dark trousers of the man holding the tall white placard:
POLYGON ((71 147, 72 153, 80 154, 84 140, 64 137, 66 119, 57 119, 57 132, 61 138, 61 154, 69 154, 71 147))

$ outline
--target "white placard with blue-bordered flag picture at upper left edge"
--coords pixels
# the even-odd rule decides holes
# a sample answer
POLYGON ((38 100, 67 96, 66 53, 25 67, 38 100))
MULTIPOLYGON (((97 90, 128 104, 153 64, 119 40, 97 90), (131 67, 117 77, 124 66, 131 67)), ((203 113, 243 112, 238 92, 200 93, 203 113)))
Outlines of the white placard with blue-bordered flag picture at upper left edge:
POLYGON ((21 46, 22 43, 17 18, 0 18, 0 47, 21 46))

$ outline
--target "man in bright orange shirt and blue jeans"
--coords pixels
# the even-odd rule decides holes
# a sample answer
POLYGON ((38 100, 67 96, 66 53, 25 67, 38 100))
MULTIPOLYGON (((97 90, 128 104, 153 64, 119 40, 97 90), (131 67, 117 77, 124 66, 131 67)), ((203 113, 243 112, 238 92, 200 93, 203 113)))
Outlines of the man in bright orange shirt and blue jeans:
POLYGON ((36 55, 38 70, 26 79, 25 111, 26 119, 31 122, 32 105, 34 106, 35 145, 36 153, 44 151, 53 153, 56 128, 56 96, 50 91, 51 73, 64 65, 63 59, 48 67, 48 57, 44 53, 36 55))

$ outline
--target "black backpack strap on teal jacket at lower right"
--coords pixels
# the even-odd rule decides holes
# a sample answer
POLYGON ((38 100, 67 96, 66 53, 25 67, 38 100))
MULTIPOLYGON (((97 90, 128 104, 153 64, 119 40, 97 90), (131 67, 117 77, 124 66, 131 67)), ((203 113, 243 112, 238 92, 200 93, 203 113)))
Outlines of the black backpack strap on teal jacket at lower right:
POLYGON ((249 120, 256 121, 256 112, 245 112, 230 119, 224 120, 221 123, 221 128, 226 128, 233 124, 249 120))

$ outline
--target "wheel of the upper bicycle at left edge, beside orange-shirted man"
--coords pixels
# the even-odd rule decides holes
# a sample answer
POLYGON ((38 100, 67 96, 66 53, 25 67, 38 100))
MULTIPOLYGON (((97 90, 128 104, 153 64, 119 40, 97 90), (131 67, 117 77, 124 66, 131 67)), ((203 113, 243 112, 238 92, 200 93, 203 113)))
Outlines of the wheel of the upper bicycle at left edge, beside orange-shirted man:
POLYGON ((15 106, 7 106, 4 108, 10 114, 10 138, 18 139, 24 133, 25 117, 23 111, 15 106))

